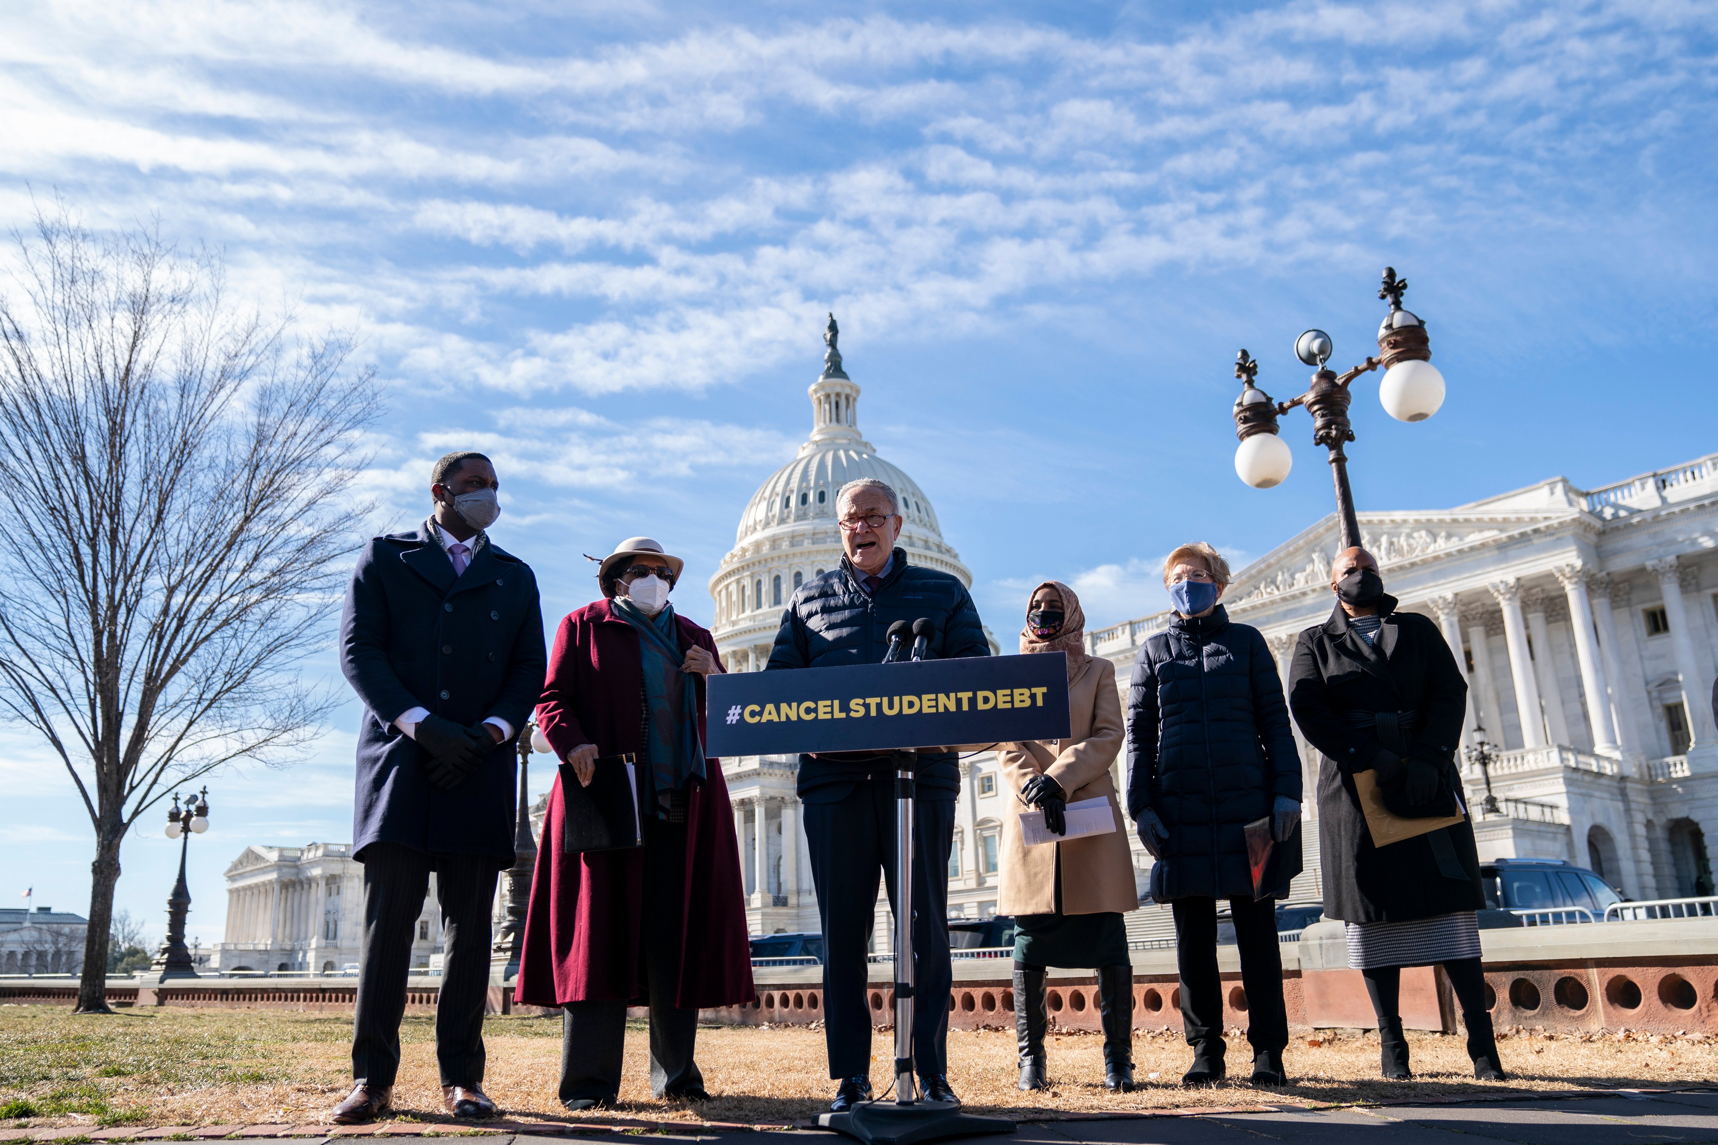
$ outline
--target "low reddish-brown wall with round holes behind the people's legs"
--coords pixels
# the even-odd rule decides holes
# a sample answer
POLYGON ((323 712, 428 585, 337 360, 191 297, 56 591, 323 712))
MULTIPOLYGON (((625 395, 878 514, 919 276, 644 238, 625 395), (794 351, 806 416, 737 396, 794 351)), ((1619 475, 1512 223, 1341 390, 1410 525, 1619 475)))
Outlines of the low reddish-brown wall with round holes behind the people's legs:
MULTIPOLYGON (((1524 930, 1484 930, 1486 985, 1498 1027, 1546 1030, 1644 1030, 1718 1033, 1718 920, 1618 922, 1524 930)), ((1302 1028, 1371 1027, 1373 1009, 1357 970, 1347 968, 1340 924, 1309 927, 1282 948, 1283 1003, 1288 1023, 1302 1028)), ((1247 1025, 1235 948, 1220 948, 1223 1025, 1247 1025)), ((871 968, 871 1016, 893 1025, 892 968, 871 968)), ((948 1025, 957 1030, 1010 1027, 1014 984, 1008 960, 959 961, 948 1025)), ((723 1025, 811 1025, 823 1020, 821 970, 759 970, 758 1003, 706 1009, 704 1021, 723 1025)), ((433 1013, 438 978, 412 978, 407 1013, 433 1013)), ((349 1013, 352 978, 234 980, 196 978, 110 984, 117 1006, 198 1006, 349 1013)), ((69 1006, 76 980, 0 978, 0 1001, 69 1006)), ((1100 1028, 1098 985, 1089 973, 1051 970, 1046 1006, 1062 1030, 1100 1028)), ((1134 954, 1134 1027, 1180 1028, 1180 989, 1173 951, 1134 954)), ((1402 1016, 1409 1028, 1457 1028, 1455 999, 1441 972, 1410 968, 1402 975, 1402 1016)), ((490 1013, 541 1013, 515 1008, 512 985, 493 982, 490 1013)), ((644 1016, 644 1011, 636 1011, 644 1016)))

